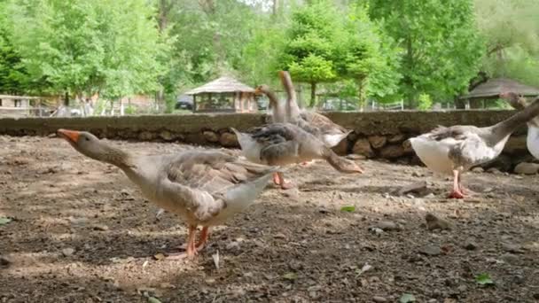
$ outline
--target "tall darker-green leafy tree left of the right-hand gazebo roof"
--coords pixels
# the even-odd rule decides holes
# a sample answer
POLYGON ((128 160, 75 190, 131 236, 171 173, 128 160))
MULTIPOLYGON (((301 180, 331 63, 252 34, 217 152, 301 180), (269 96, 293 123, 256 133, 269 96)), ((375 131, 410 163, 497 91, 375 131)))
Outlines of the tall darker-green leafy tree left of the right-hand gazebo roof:
POLYGON ((484 46, 473 15, 472 0, 370 0, 370 15, 400 43, 400 83, 408 106, 420 93, 453 98, 477 74, 484 46))

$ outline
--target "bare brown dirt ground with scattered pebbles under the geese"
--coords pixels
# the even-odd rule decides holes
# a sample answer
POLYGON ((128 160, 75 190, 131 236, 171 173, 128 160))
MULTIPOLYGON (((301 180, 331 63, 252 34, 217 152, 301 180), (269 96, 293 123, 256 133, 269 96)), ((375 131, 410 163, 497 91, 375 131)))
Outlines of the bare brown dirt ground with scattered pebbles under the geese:
POLYGON ((537 175, 469 173, 475 194, 457 201, 424 167, 358 162, 364 175, 322 162, 291 168, 298 189, 269 186, 212 230, 196 260, 163 260, 186 227, 173 214, 156 219, 118 168, 59 138, 0 136, 0 217, 12 218, 0 225, 0 302, 539 300, 537 175), (424 181, 420 194, 395 193, 424 181), (451 229, 426 229, 427 212, 451 229), (478 284, 480 274, 494 285, 478 284))

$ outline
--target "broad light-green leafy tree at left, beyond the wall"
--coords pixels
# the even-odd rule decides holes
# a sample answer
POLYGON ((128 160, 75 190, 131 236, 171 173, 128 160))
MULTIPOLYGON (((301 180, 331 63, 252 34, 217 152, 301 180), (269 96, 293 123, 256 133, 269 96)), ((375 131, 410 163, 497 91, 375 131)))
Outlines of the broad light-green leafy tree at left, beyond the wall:
POLYGON ((12 0, 14 44, 51 92, 117 98, 156 89, 160 37, 144 0, 12 0))

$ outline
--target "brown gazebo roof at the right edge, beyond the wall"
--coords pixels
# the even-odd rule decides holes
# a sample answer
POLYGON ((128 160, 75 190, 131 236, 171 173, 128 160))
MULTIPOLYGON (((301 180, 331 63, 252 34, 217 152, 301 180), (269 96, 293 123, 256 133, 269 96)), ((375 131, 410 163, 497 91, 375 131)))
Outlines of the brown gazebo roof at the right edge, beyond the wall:
POLYGON ((468 95, 461 99, 498 97, 504 91, 512 91, 522 96, 538 96, 539 89, 524 85, 508 78, 490 79, 472 89, 468 95))

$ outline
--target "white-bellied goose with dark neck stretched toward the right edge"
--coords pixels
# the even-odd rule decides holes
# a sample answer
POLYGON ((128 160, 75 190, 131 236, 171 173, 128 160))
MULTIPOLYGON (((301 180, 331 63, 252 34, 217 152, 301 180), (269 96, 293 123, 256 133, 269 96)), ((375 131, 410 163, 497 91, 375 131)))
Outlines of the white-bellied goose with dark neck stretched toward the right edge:
POLYGON ((524 110, 493 126, 440 126, 429 133, 411 138, 410 144, 426 167, 437 173, 453 175, 453 189, 449 198, 464 198, 462 173, 496 159, 504 150, 509 136, 537 114, 539 98, 524 110))

